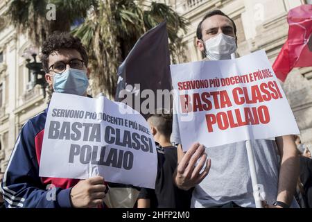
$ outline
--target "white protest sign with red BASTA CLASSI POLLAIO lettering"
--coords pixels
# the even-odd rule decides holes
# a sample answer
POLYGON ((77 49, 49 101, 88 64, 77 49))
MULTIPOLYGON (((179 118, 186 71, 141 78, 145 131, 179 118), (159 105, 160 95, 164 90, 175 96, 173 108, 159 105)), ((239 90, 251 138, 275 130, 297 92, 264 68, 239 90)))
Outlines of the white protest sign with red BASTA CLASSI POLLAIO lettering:
POLYGON ((299 134, 264 51, 171 65, 171 76, 184 149, 299 134))

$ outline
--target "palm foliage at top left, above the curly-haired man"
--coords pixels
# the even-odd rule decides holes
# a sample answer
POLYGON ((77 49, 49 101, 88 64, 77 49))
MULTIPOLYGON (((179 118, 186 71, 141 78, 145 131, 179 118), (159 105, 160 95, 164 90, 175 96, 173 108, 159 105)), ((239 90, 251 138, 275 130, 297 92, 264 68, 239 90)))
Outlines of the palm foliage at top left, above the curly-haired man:
POLYGON ((12 0, 7 16, 20 33, 27 33, 32 42, 42 44, 53 31, 70 31, 71 24, 86 17, 95 3, 96 0, 12 0), (49 3, 55 5, 55 20, 46 18, 49 3))

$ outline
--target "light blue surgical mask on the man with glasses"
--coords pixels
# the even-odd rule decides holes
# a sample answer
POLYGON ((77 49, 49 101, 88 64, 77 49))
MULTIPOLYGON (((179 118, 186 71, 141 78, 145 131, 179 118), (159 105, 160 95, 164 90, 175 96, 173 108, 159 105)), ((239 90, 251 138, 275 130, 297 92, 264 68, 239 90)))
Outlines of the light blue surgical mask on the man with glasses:
POLYGON ((53 79, 54 92, 83 96, 89 85, 87 71, 80 69, 69 68, 62 74, 54 74, 53 79))

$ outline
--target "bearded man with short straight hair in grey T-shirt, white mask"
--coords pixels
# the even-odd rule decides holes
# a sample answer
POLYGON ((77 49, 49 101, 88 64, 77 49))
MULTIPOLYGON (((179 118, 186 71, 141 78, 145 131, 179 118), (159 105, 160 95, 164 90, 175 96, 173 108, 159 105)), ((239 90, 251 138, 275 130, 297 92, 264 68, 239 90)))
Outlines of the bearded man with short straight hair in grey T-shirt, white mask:
MULTIPOLYGON (((220 10, 208 12, 202 18, 196 37, 198 50, 205 54, 206 60, 229 60, 236 53, 235 23, 220 10)), ((177 115, 173 117, 171 141, 181 144, 177 118, 177 115)), ((263 207, 297 207, 293 195, 299 159, 293 135, 254 139, 252 147, 259 192, 265 199, 263 207)), ((175 182, 181 189, 194 187, 191 207, 256 207, 245 142, 212 148, 195 144, 185 154, 179 145, 177 153, 179 165, 175 182), (198 175, 201 164, 196 162, 200 156, 202 160, 211 159, 207 177, 198 175)))

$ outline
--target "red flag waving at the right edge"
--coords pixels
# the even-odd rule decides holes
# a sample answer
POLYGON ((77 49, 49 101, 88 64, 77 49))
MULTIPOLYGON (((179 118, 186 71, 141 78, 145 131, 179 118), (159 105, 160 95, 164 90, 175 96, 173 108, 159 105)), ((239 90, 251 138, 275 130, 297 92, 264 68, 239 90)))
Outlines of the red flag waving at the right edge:
POLYGON ((272 68, 283 82, 293 67, 312 66, 312 5, 289 10, 288 39, 281 48, 272 68))

